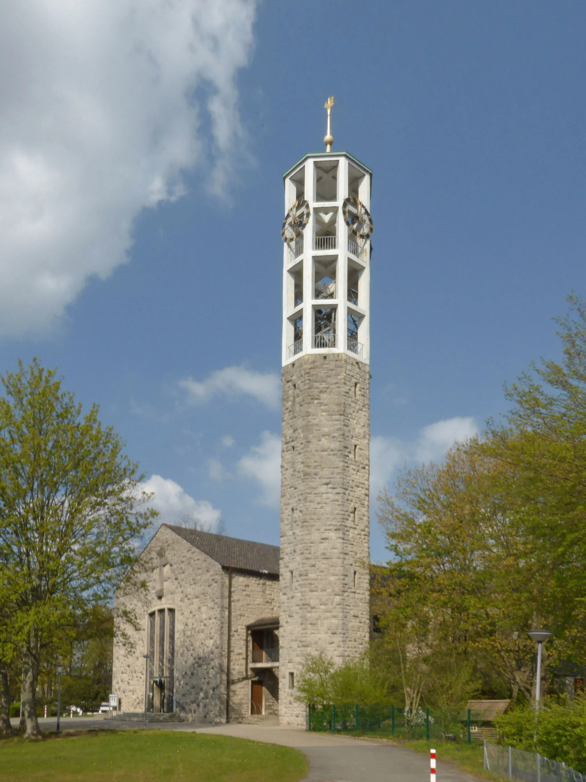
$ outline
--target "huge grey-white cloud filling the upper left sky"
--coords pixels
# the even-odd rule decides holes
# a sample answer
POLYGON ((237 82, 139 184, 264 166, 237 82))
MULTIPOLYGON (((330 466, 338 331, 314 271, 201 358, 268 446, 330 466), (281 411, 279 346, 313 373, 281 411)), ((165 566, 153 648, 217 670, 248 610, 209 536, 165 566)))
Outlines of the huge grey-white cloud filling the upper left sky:
POLYGON ((223 192, 254 16, 254 0, 0 4, 0 334, 48 328, 127 260, 181 170, 207 158, 223 192))

